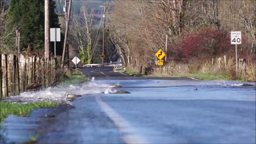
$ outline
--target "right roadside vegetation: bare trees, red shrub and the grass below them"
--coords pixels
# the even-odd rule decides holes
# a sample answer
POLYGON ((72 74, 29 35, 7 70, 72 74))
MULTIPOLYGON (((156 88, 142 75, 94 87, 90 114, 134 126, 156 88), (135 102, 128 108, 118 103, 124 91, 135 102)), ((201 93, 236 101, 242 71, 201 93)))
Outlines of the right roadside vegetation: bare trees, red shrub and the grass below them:
POLYGON ((154 76, 256 81, 256 1, 237 1, 236 4, 211 0, 113 3, 108 29, 126 68, 154 69, 150 73, 154 76), (239 14, 230 13, 233 10, 239 14), (238 66, 238 77, 230 31, 242 33, 237 55, 238 65, 239 59, 243 59, 245 69, 242 72, 238 66), (155 53, 159 49, 166 54, 164 66, 157 66, 155 53))

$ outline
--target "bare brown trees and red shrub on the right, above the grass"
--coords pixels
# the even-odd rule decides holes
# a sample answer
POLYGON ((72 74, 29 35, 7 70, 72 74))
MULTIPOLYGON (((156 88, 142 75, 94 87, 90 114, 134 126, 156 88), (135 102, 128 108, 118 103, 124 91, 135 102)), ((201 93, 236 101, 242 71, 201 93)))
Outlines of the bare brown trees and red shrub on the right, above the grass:
POLYGON ((255 58, 256 1, 113 1, 110 39, 126 66, 149 66, 158 49, 167 61, 233 56, 230 31, 242 31, 241 57, 255 58))

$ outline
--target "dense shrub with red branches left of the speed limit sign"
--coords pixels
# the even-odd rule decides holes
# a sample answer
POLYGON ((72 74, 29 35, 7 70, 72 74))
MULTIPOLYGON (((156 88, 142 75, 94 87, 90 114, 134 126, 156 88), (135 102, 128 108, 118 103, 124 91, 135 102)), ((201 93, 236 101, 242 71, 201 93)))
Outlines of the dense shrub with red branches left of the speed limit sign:
POLYGON ((185 58, 216 57, 231 50, 230 37, 221 29, 204 28, 187 34, 178 44, 185 58))

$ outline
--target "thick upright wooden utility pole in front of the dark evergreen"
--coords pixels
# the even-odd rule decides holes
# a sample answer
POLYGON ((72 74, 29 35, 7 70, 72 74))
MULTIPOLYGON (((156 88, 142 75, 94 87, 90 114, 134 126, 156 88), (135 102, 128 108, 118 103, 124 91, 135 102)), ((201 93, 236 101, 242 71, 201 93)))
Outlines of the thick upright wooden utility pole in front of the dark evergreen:
POLYGON ((45 58, 50 57, 50 0, 44 1, 44 54, 45 58))

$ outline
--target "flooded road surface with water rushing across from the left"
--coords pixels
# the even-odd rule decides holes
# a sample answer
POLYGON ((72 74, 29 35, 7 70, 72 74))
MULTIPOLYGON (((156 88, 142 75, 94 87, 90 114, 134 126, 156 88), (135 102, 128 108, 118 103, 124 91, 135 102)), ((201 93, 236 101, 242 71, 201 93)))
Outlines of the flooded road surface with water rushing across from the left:
POLYGON ((37 143, 255 143, 255 83, 100 78, 27 97, 47 98, 40 93, 71 106, 53 118, 42 117, 49 111, 41 109, 29 118, 6 118, 5 142, 35 132, 37 143), (70 93, 82 97, 69 102, 70 93))

